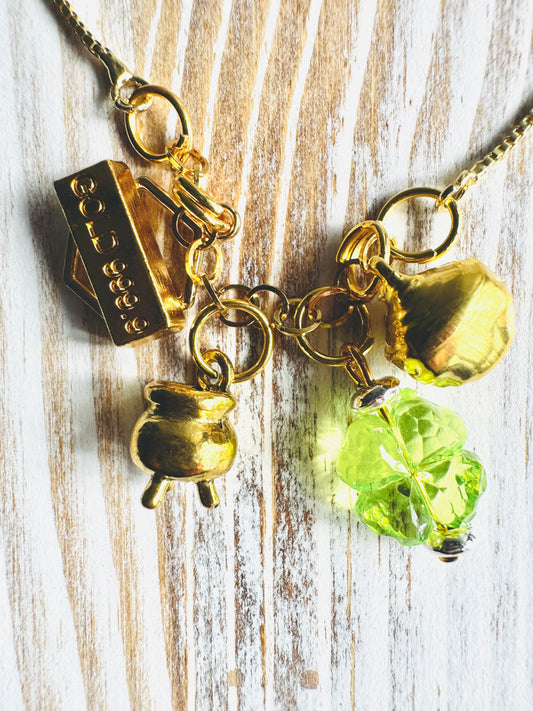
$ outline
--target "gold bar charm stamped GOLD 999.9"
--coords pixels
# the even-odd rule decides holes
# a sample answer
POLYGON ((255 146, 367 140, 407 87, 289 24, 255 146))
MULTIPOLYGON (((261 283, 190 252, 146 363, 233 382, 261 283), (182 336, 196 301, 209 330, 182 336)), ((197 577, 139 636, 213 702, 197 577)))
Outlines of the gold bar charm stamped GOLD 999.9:
POLYGON ((67 251, 67 283, 92 308, 98 303, 115 344, 181 330, 183 304, 128 167, 102 161, 55 189, 77 248, 70 243, 67 251))

